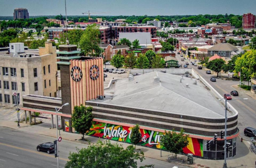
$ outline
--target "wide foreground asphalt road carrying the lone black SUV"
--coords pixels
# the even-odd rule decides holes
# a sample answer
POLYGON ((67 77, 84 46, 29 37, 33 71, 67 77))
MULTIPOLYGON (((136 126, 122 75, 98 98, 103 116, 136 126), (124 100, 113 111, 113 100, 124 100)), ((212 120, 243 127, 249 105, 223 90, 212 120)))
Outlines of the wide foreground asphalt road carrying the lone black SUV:
MULTIPOLYGON (((55 138, 39 134, 27 133, 7 127, 0 127, 0 167, 12 168, 50 168, 57 167, 57 158, 54 153, 38 152, 38 144, 53 142, 55 138)), ((64 167, 68 160, 69 152, 75 152, 76 147, 87 147, 82 143, 62 140, 59 146, 59 167, 64 167)), ((154 164, 155 167, 173 167, 172 163, 146 158, 138 162, 139 166, 154 164)), ((181 166, 179 166, 181 167, 181 166)))

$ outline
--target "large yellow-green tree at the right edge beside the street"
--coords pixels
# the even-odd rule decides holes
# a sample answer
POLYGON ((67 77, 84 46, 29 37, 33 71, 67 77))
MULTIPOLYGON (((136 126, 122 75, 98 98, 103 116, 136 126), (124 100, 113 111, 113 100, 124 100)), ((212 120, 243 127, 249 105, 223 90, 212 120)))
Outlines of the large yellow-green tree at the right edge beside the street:
MULTIPOLYGON (((235 70, 237 73, 241 69, 241 74, 246 77, 247 80, 256 77, 256 50, 247 51, 241 57, 238 57, 235 61, 235 70)), ((242 80, 243 78, 241 78, 242 80)))

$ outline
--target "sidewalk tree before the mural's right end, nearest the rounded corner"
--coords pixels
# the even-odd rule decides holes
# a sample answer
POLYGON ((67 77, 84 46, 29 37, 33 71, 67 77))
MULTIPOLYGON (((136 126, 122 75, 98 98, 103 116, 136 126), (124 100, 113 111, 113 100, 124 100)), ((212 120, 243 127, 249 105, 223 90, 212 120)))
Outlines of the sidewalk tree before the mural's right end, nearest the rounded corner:
POLYGON ((184 135, 183 128, 181 128, 180 133, 176 133, 174 129, 169 132, 165 130, 165 135, 161 138, 161 144, 166 150, 175 153, 175 158, 177 158, 177 154, 182 153, 182 148, 189 144, 188 137, 189 135, 184 135))

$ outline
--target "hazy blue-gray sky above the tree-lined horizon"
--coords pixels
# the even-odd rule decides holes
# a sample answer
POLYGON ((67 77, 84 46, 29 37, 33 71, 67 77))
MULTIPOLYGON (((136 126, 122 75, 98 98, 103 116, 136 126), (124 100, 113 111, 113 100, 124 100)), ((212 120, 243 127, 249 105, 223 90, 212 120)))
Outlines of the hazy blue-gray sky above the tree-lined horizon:
MULTIPOLYGON (((198 15, 254 13, 255 0, 66 0, 67 15, 198 15), (86 14, 87 15, 87 14, 86 14)), ((0 0, 0 16, 12 16, 15 8, 29 15, 65 15, 65 0, 0 0)))

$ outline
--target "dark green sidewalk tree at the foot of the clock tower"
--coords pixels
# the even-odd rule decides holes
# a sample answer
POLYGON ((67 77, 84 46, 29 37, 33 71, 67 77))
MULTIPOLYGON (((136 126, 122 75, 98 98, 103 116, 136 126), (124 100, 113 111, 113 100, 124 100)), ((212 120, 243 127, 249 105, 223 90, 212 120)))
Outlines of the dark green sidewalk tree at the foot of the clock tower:
POLYGON ((90 130, 93 123, 93 107, 75 106, 72 114, 72 127, 83 135, 85 139, 85 133, 90 130))

